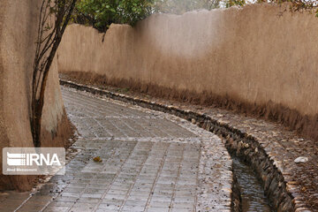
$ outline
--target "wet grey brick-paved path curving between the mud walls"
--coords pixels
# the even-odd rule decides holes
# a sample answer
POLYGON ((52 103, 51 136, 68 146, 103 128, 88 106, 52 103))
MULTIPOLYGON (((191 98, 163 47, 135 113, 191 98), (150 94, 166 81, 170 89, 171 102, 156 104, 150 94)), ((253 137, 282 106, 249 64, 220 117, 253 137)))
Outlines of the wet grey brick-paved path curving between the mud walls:
POLYGON ((62 91, 79 154, 19 208, 12 194, 0 198, 1 211, 231 211, 231 159, 214 134, 168 114, 62 91))

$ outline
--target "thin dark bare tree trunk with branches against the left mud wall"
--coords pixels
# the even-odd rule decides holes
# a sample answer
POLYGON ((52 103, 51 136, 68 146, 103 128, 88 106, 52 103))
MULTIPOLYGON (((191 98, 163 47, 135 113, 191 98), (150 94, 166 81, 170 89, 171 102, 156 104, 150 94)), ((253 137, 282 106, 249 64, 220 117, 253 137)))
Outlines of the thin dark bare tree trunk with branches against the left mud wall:
POLYGON ((30 114, 34 146, 41 146, 42 110, 49 68, 72 16, 77 0, 42 0, 34 57, 32 111, 30 114), (53 18, 54 21, 49 20, 53 18), (54 26, 54 27, 53 27, 54 26), (45 35, 44 35, 45 34, 45 35))

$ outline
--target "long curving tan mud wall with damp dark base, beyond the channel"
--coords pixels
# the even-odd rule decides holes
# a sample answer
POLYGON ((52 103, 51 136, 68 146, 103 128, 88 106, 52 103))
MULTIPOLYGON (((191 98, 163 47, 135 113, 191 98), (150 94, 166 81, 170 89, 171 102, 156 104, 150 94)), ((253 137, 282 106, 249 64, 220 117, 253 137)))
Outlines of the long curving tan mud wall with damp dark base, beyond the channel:
POLYGON ((318 139, 318 19, 286 5, 155 14, 137 27, 67 28, 58 70, 79 79, 216 104, 318 139))

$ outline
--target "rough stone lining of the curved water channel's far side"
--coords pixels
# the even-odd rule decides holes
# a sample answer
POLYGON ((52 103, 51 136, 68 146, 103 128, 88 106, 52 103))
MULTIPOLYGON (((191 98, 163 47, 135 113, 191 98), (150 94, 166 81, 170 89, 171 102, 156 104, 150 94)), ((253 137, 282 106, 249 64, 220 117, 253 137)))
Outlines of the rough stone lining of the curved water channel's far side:
MULTIPOLYGON (((151 110, 163 111, 177 117, 182 117, 193 124, 200 126, 211 133, 220 136, 226 148, 232 155, 250 164, 256 170, 259 178, 263 182, 263 188, 269 200, 272 202, 277 211, 295 211, 295 201, 292 194, 287 191, 286 182, 282 172, 277 169, 272 158, 269 157, 262 145, 250 134, 240 132, 238 129, 220 123, 206 114, 200 114, 191 110, 181 110, 177 107, 164 105, 157 102, 133 98, 127 95, 119 95, 110 91, 102 90, 95 87, 80 85, 71 81, 61 79, 61 85, 74 87, 79 90, 85 90, 95 95, 103 95, 122 102, 129 102, 151 110)), ((233 200, 232 200, 233 201, 233 200)), ((233 208, 232 208, 233 209, 233 208)), ((297 209, 296 211, 310 211, 297 209)))

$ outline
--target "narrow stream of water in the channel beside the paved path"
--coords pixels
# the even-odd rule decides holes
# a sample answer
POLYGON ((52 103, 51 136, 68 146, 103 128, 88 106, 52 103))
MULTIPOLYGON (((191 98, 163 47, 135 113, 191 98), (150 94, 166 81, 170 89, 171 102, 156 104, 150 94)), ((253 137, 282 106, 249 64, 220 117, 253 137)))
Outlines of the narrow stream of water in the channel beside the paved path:
POLYGON ((264 194, 261 181, 256 178, 254 170, 232 156, 233 169, 238 179, 243 212, 275 212, 264 194))

